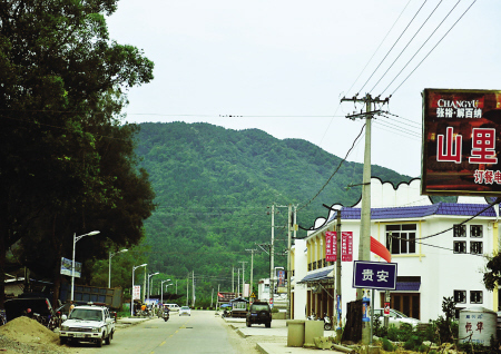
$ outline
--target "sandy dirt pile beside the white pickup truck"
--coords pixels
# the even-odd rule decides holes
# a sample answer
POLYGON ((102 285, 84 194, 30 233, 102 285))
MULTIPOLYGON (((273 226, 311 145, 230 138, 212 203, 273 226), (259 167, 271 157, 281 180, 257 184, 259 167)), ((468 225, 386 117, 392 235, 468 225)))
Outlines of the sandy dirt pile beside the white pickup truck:
POLYGON ((21 316, 0 326, 2 353, 68 353, 59 336, 37 321, 21 316), (4 352, 7 350, 7 352, 4 352))

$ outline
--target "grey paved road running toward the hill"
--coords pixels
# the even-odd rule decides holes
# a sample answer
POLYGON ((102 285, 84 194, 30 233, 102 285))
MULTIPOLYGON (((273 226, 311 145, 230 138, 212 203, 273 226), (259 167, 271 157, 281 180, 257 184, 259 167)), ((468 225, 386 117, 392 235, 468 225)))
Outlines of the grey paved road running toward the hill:
POLYGON ((258 353, 213 311, 194 311, 191 316, 170 315, 168 322, 154 318, 119 328, 110 345, 70 344, 70 353, 258 353))

